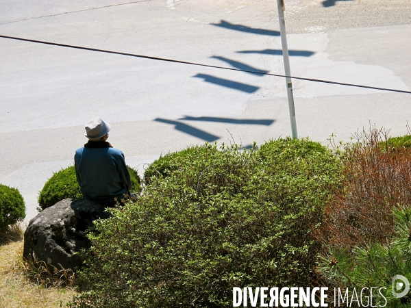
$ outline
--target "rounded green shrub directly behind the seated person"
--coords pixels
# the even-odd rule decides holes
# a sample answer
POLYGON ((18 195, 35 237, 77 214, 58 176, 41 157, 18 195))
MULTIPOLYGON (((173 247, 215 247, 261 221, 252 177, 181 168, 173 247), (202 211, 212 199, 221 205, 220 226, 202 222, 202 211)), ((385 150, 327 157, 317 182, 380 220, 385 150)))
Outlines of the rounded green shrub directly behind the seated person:
MULTIPOLYGON (((140 192, 140 177, 137 171, 129 166, 127 166, 127 169, 132 179, 133 191, 140 192)), ((83 198, 75 177, 75 166, 70 166, 53 174, 38 195, 38 205, 42 210, 65 198, 83 198)))

